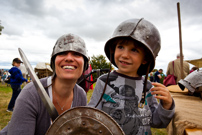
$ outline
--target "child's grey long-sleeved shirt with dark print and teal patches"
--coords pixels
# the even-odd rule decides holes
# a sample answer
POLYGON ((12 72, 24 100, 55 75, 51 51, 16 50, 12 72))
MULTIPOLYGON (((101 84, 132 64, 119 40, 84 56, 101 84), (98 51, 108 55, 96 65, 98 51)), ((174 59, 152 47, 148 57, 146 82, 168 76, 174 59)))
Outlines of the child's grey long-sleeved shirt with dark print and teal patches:
MULTIPOLYGON (((98 103, 106 79, 107 74, 97 80, 88 106, 95 107, 98 103)), ((143 82, 143 77, 128 77, 116 71, 110 73, 105 94, 97 107, 113 117, 126 135, 151 134, 150 126, 165 128, 174 115, 174 101, 171 109, 165 110, 149 91, 152 87, 150 82, 147 84, 145 106, 138 108, 143 82)))

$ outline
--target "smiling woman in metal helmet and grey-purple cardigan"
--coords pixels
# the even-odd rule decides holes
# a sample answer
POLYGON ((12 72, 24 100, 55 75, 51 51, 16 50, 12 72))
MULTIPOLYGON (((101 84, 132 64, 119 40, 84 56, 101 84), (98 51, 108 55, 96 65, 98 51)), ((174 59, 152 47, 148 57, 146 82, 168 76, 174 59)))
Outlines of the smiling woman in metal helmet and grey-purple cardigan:
MULTIPOLYGON (((86 93, 76 82, 87 66, 88 56, 84 41, 73 34, 61 36, 51 56, 53 76, 41 79, 58 114, 71 107, 86 106, 86 93)), ((43 135, 51 123, 36 88, 33 83, 29 83, 16 101, 8 134, 43 135)))

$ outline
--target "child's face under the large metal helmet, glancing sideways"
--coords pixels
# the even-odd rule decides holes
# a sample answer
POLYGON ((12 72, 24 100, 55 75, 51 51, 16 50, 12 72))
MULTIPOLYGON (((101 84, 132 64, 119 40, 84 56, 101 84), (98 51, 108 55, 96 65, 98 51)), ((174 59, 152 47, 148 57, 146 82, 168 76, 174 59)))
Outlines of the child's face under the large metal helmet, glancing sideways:
POLYGON ((137 47, 130 40, 116 45, 114 60, 118 67, 117 72, 131 77, 138 77, 138 68, 141 64, 146 64, 143 48, 137 47))

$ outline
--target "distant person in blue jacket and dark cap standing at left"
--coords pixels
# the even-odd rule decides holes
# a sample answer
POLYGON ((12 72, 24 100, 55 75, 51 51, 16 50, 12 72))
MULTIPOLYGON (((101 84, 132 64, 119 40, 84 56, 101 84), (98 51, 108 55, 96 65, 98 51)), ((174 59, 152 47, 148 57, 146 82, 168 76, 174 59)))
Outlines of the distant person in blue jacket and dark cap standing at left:
POLYGON ((8 109, 7 109, 8 112, 13 111, 15 100, 21 92, 21 84, 23 82, 28 81, 27 79, 23 78, 22 72, 19 69, 21 63, 22 61, 19 58, 13 59, 13 62, 12 62, 13 67, 9 70, 9 73, 11 75, 10 85, 13 93, 12 93, 11 100, 8 104, 8 109))

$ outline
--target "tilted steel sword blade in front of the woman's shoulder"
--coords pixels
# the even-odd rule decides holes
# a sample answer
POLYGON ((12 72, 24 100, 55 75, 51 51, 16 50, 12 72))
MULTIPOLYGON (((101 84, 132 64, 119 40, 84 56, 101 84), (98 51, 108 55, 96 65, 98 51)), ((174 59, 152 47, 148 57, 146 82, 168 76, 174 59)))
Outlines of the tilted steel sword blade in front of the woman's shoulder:
POLYGON ((57 112, 55 106, 51 102, 51 100, 50 100, 48 94, 46 93, 43 85, 41 84, 39 78, 37 77, 34 70, 32 69, 32 67, 31 67, 27 57, 25 56, 24 52, 20 48, 18 48, 18 51, 20 53, 20 56, 23 60, 23 63, 25 64, 25 67, 26 67, 28 73, 30 74, 30 77, 31 77, 36 89, 37 89, 37 92, 38 92, 43 104, 45 105, 52 121, 54 121, 58 117, 58 112, 57 112))

